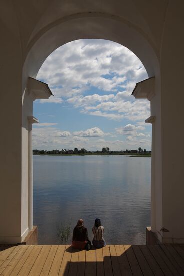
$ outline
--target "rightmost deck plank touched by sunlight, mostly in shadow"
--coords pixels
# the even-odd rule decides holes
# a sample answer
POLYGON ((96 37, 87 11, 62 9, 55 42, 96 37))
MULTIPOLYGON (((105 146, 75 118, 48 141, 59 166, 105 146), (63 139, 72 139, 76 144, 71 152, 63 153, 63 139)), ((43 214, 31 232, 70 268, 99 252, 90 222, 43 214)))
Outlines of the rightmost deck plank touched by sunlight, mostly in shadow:
POLYGON ((125 252, 126 252, 126 255, 127 255, 127 258, 128 258, 128 261, 129 261, 129 264, 130 264, 133 275, 136 275, 136 276, 140 275, 141 276, 142 271, 141 271, 140 266, 138 264, 137 258, 134 254, 132 246, 131 245, 124 245, 124 249, 125 249, 125 252))

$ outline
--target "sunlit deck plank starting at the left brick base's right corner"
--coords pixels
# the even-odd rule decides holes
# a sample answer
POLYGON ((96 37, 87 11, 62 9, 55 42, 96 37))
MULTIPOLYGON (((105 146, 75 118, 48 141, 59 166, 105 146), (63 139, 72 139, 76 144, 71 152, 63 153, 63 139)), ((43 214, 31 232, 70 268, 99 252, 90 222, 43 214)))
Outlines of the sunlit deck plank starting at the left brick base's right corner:
POLYGON ((21 270, 19 271, 18 275, 19 276, 26 276, 29 274, 35 260, 37 259, 40 251, 42 249, 42 245, 35 245, 33 250, 31 251, 30 255, 28 256, 27 260, 21 267, 21 270))

